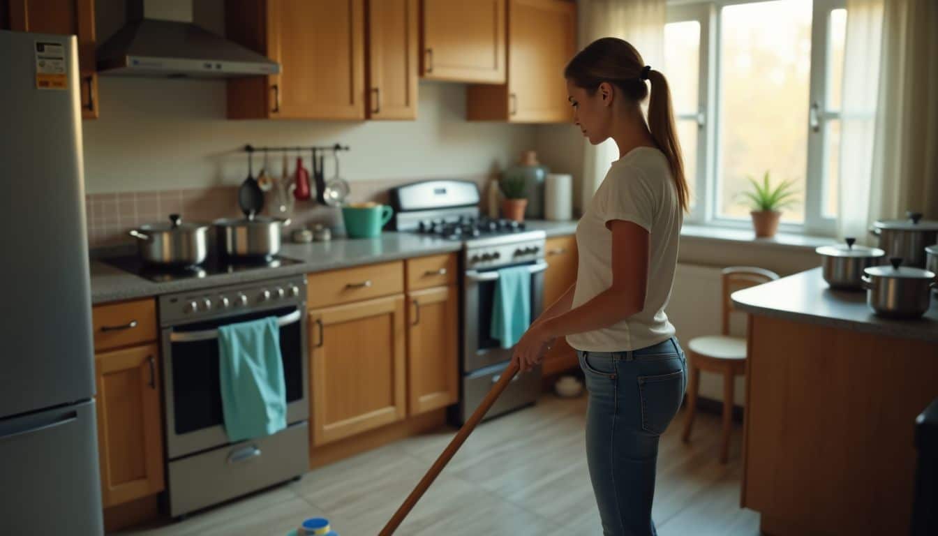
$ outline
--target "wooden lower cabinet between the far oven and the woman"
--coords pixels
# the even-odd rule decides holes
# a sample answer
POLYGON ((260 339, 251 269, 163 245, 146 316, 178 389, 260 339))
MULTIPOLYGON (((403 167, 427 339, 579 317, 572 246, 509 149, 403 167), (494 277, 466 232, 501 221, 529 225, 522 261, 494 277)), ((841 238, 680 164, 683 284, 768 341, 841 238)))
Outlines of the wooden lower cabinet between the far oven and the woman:
MULTIPOLYGON (((544 246, 544 261, 548 268, 544 271, 544 308, 550 307, 560 299, 567 288, 577 281, 577 240, 576 237, 548 238, 544 246)), ((576 351, 567 345, 567 340, 558 338, 551 350, 544 356, 542 373, 552 375, 578 366, 576 351)))

